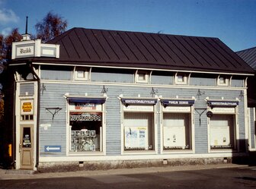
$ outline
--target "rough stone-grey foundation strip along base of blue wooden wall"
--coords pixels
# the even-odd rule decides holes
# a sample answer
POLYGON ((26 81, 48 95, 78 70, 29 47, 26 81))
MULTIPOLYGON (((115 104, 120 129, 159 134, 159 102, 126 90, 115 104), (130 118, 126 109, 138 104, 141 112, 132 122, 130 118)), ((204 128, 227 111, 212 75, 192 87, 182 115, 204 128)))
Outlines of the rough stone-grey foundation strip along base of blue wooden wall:
POLYGON ((38 172, 70 172, 93 171, 107 169, 133 169, 142 167, 162 167, 181 165, 213 165, 231 163, 232 158, 209 159, 158 159, 158 160, 126 160, 126 161, 101 161, 101 162, 41 162, 38 172))

